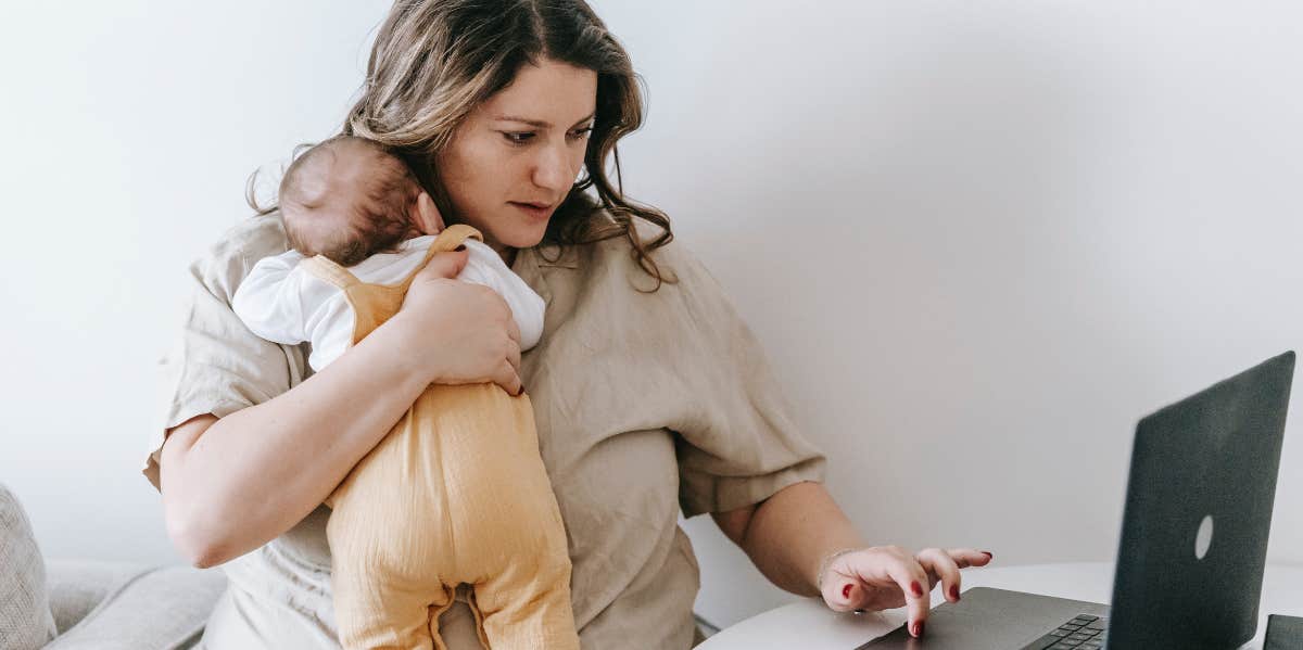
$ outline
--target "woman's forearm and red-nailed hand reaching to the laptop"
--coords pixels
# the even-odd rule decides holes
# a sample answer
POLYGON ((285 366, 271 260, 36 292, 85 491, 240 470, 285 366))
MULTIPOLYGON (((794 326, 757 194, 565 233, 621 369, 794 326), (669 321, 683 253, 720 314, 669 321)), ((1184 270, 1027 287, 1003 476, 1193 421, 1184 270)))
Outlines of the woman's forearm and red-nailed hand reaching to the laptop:
POLYGON ((909 633, 923 634, 929 593, 942 582, 959 601, 959 569, 992 560, 972 548, 870 547, 822 483, 790 485, 756 505, 713 513, 771 582, 800 595, 822 595, 837 611, 908 607, 909 633))

